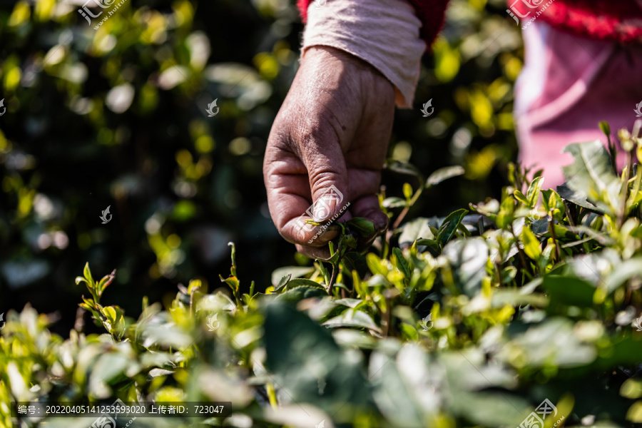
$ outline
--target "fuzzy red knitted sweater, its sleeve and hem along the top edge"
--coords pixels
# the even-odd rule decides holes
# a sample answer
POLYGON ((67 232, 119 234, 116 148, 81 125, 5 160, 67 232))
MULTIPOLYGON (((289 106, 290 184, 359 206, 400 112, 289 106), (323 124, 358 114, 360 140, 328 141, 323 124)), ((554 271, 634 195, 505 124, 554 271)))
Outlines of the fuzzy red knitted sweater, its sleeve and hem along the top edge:
MULTIPOLYGON (((297 0, 304 22, 311 1, 297 0)), ((422 38, 432 44, 444 25, 448 0, 408 1, 424 24, 422 38)), ((537 19, 563 31, 622 44, 642 42, 642 0, 509 0, 509 5, 522 21, 541 11, 537 19)))

